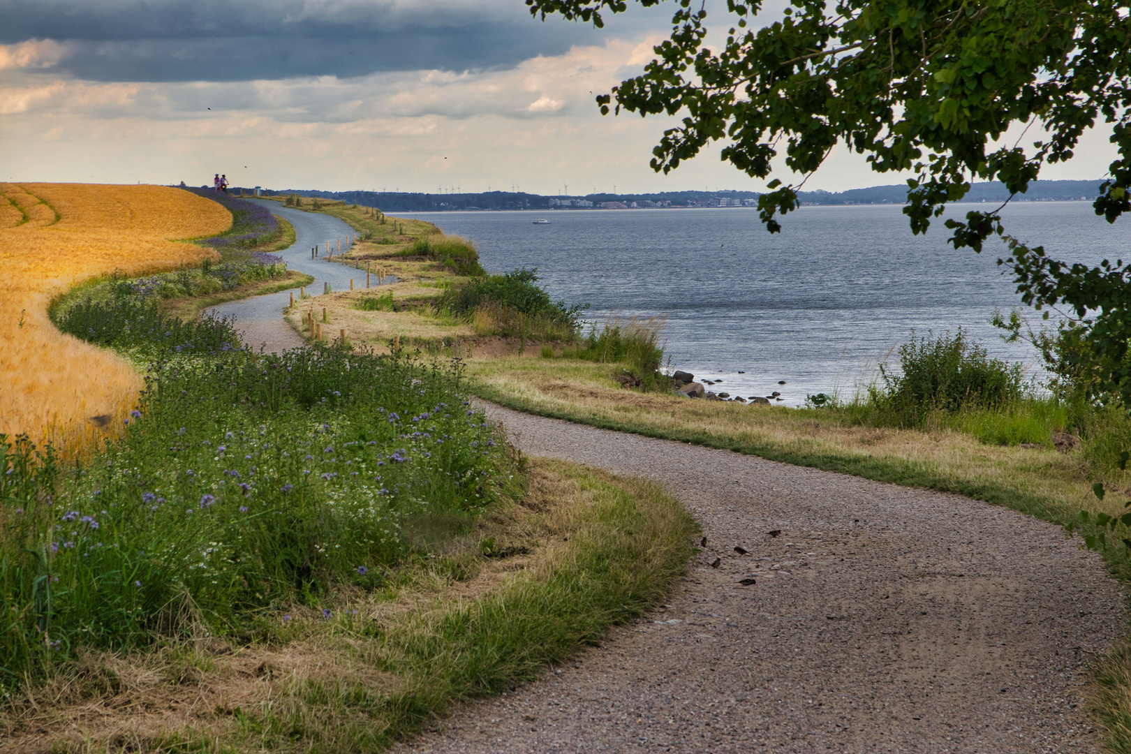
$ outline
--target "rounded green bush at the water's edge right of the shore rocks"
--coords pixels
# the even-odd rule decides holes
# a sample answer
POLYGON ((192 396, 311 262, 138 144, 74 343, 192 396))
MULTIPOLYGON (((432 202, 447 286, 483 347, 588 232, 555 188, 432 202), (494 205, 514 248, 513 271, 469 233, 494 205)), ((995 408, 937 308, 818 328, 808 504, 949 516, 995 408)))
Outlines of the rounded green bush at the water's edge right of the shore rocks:
POLYGON ((961 328, 955 336, 929 333, 899 347, 900 372, 880 367, 882 388, 870 399, 881 410, 908 425, 932 413, 996 409, 1028 395, 1021 364, 991 358, 961 328))

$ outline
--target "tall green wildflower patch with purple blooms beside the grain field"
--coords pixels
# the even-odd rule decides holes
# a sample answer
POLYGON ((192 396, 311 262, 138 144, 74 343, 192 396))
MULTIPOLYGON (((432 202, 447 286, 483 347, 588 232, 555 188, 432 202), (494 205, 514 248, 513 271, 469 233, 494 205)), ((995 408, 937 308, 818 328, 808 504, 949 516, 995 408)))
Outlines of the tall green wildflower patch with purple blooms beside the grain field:
POLYGON ((104 452, 67 465, 0 437, 0 686, 81 647, 251 636, 294 604, 329 615, 334 588, 382 586, 421 546, 409 532, 466 528, 511 495, 512 459, 458 369, 179 350, 128 297, 75 313, 80 337, 98 306, 113 323, 95 337, 153 361, 104 452))

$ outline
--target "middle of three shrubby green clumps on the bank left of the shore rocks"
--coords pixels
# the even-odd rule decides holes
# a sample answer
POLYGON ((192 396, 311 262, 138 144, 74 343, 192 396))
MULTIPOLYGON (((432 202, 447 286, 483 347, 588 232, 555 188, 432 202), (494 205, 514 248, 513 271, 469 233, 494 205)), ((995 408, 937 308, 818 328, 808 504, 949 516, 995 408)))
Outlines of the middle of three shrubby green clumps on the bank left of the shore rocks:
POLYGON ((434 304, 439 312, 472 322, 477 335, 530 340, 572 340, 584 306, 553 301, 537 285, 537 270, 516 269, 448 288, 434 304))

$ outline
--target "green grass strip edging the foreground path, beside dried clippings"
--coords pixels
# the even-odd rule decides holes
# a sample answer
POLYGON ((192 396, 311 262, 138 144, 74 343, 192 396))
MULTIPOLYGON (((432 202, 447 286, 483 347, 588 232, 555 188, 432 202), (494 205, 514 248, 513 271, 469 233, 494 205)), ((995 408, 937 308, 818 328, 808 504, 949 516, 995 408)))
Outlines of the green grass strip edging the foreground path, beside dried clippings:
MULTIPOLYGON (((546 463, 587 502, 569 545, 518 581, 470 604, 412 613, 365 652, 396 690, 308 682, 241 728, 256 747, 381 751, 452 704, 533 681, 547 664, 598 643, 608 626, 642 615, 683 573, 697 528, 655 485, 625 484, 546 463)), ((563 485, 564 486, 564 485, 563 485)))

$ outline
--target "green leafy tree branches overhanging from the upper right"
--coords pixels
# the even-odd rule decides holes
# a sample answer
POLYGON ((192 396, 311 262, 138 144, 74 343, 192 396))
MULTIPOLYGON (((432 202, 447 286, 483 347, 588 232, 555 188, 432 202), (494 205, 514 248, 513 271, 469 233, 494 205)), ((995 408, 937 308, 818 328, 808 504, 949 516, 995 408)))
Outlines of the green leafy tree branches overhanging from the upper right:
MULTIPOLYGON (((543 19, 559 14, 598 27, 603 14, 629 10, 625 0, 526 3, 543 19)), ((672 34, 655 60, 597 97, 603 113, 682 114, 653 150, 656 171, 723 140, 722 158, 750 176, 769 177, 784 151, 786 166, 808 177, 841 142, 879 173, 916 174, 904 213, 912 231, 924 233, 974 180, 1024 193, 1043 166, 1070 159, 1102 120, 1113 128, 1117 158, 1095 210, 1108 223, 1131 210, 1131 23, 1122 2, 792 0, 765 24, 758 0, 726 0, 728 32, 715 46, 707 43, 706 1, 674 5, 672 34), (1022 147, 1022 133, 1000 146, 1010 127, 1034 124, 1047 136, 1022 147)), ((775 233, 778 216, 800 206, 800 184, 775 179, 768 188, 759 209, 775 233)), ((1131 406, 1131 270, 1122 261, 1054 260, 1009 236, 1001 209, 948 219, 950 243, 981 252, 990 236, 1001 236, 1008 255, 999 262, 1012 268, 1022 300, 1070 310, 1105 389, 1131 406)))

